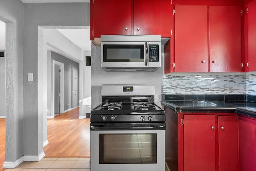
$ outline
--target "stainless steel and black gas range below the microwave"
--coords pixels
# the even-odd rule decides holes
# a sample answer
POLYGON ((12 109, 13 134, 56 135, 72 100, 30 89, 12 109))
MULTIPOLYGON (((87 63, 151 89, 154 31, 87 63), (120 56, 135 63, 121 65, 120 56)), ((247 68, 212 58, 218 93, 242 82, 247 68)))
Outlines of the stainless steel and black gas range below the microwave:
POLYGON ((91 111, 91 171, 164 171, 165 112, 153 84, 104 84, 91 111))

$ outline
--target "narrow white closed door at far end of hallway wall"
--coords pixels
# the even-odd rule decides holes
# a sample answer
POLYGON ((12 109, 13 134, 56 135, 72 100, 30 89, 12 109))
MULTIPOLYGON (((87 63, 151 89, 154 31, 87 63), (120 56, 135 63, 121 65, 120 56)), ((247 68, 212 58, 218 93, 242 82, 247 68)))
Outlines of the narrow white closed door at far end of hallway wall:
POLYGON ((78 106, 78 69, 72 67, 72 108, 78 106))

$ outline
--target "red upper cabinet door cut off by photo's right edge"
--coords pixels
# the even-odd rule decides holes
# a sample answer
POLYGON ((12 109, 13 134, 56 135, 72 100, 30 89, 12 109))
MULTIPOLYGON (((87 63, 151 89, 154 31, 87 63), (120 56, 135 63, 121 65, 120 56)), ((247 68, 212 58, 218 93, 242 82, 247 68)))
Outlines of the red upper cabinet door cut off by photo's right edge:
POLYGON ((248 67, 256 71, 256 0, 248 4, 248 67))

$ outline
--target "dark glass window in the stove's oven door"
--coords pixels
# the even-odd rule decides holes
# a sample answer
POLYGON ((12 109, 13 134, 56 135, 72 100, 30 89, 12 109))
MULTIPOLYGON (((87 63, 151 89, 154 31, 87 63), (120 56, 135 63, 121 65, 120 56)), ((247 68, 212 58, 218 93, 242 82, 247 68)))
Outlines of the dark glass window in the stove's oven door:
POLYGON ((100 164, 157 163, 156 133, 99 134, 100 164))

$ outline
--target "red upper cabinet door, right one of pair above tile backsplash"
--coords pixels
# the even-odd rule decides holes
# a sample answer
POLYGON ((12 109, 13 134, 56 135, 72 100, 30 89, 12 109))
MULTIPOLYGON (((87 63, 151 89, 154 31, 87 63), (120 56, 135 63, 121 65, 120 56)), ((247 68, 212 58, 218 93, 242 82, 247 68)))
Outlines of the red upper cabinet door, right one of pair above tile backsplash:
POLYGON ((210 72, 241 72, 241 7, 210 6, 209 30, 210 72))

